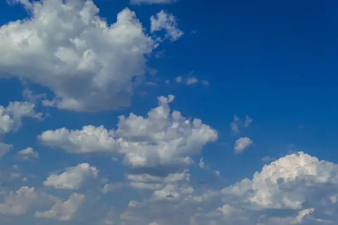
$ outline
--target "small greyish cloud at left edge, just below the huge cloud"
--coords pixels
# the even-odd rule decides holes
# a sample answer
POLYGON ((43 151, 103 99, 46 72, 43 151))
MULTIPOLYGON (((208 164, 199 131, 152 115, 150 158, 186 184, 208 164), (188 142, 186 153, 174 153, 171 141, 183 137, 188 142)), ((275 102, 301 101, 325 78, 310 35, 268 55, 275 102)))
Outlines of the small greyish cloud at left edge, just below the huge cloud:
POLYGON ((23 117, 41 119, 42 114, 36 113, 34 111, 34 107, 34 103, 18 101, 9 102, 7 107, 0 105, 0 135, 16 131, 18 128, 20 128, 21 119, 23 117))

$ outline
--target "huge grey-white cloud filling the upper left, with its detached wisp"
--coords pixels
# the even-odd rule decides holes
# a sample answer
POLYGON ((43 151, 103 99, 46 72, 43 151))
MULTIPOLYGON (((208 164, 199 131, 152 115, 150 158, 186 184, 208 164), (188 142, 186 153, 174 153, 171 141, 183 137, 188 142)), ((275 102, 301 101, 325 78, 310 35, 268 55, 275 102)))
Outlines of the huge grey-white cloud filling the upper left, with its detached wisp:
MULTIPOLYGON (((91 0, 19 2, 31 17, 0 27, 1 76, 48 87, 55 98, 44 100, 46 106, 99 111, 129 105, 145 55, 158 45, 134 12, 126 8, 107 24, 91 0)), ((160 12, 152 17, 152 32, 165 29, 176 40, 183 33, 175 21, 160 12)))

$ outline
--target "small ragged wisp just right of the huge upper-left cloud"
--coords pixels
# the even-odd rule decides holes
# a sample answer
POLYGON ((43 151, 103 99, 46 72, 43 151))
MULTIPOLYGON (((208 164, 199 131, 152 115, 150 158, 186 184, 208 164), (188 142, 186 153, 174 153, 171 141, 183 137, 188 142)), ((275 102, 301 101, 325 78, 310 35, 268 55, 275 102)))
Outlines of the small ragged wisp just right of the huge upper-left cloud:
POLYGON ((166 30, 166 38, 170 38, 171 41, 178 40, 184 33, 177 27, 176 18, 165 12, 164 10, 156 13, 156 16, 150 17, 152 33, 159 30, 166 30))

